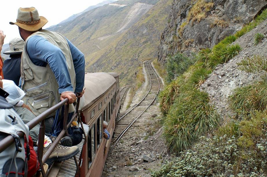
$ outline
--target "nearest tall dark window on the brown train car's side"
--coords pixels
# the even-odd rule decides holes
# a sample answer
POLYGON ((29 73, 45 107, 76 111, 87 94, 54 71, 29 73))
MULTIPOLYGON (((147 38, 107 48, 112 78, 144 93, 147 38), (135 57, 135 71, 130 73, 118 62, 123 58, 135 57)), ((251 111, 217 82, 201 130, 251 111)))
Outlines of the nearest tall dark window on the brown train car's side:
POLYGON ((90 165, 92 164, 92 161, 94 159, 95 153, 96 153, 96 143, 95 143, 95 127, 96 124, 92 126, 92 128, 89 130, 88 133, 88 169, 90 165))

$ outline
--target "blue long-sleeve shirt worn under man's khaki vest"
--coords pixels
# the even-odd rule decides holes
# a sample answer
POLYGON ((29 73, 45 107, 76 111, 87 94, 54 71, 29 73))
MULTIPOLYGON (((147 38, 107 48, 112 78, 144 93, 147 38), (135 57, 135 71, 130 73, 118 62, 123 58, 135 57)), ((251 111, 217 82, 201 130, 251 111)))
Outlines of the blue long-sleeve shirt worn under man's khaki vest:
POLYGON ((49 64, 58 83, 58 92, 82 92, 84 86, 85 59, 68 39, 68 45, 72 54, 74 70, 76 74, 76 88, 73 90, 70 74, 67 68, 66 58, 61 49, 51 44, 41 36, 32 36, 29 38, 26 50, 33 64, 45 67, 49 64))

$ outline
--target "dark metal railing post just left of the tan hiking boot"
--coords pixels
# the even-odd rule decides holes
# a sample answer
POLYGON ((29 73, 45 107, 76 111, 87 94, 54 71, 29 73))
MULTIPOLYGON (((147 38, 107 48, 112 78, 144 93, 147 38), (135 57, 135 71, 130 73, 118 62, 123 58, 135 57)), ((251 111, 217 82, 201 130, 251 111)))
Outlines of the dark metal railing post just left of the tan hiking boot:
POLYGON ((45 170, 43 169, 43 161, 42 161, 44 140, 45 140, 45 120, 42 120, 41 126, 39 128, 37 157, 40 163, 41 173, 43 177, 46 177, 45 170))

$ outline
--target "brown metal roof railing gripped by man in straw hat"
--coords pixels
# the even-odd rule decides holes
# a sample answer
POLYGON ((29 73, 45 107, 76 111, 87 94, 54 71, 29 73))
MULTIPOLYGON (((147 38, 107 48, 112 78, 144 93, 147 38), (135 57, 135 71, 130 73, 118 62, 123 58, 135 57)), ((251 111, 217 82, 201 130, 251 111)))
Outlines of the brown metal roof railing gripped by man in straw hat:
MULTIPOLYGON (((47 109, 46 111, 44 111, 40 115, 36 116, 36 118, 34 118, 33 120, 31 120, 30 122, 28 122, 26 124, 29 127, 29 130, 31 130, 34 126, 36 126, 37 124, 39 124, 41 122, 40 129, 39 129, 38 142, 44 142, 44 136, 45 136, 45 118, 47 118, 47 116, 51 115, 53 112, 55 112, 57 109, 59 109, 60 107, 62 107, 67 102, 68 102, 68 98, 65 98, 64 100, 62 100, 58 104, 54 105, 50 109, 47 109)), ((49 175, 49 172, 50 171, 47 172, 48 174, 45 174, 45 171, 44 171, 44 168, 43 168, 43 164, 49 158, 49 156, 52 154, 53 150, 58 145, 60 139, 63 138, 64 135, 68 135, 67 129, 70 127, 70 125, 73 122, 73 120, 78 117, 78 122, 80 122, 81 125, 82 125, 81 118, 80 118, 80 115, 79 115, 79 112, 78 112, 79 103, 80 103, 80 98, 78 98, 78 100, 77 100, 76 112, 72 116, 72 118, 71 118, 71 120, 70 120, 69 123, 67 123, 69 105, 65 105, 64 120, 63 120, 63 122, 64 122, 63 130, 59 133, 59 135, 56 137, 55 141, 50 146, 50 148, 47 150, 47 152, 45 152, 45 154, 43 154, 43 143, 39 143, 38 144, 38 148, 37 148, 37 159, 38 159, 38 161, 40 163, 41 172, 38 171, 36 173, 36 176, 40 176, 40 173, 42 174, 43 177, 46 177, 46 176, 49 175)), ((17 132, 17 135, 19 135, 19 137, 23 137, 24 136, 24 133, 20 131, 20 132, 17 132)), ((9 135, 6 138, 2 139, 0 141, 0 153, 3 152, 3 150, 5 150, 6 148, 8 148, 9 146, 11 146, 13 143, 14 143, 14 138, 11 135, 9 135)), ((74 158, 74 161, 75 161, 75 164, 76 164, 76 175, 78 175, 79 174, 78 162, 77 162, 77 159, 76 159, 75 156, 73 158, 74 158)), ((52 167, 50 167, 50 169, 51 168, 52 167)))

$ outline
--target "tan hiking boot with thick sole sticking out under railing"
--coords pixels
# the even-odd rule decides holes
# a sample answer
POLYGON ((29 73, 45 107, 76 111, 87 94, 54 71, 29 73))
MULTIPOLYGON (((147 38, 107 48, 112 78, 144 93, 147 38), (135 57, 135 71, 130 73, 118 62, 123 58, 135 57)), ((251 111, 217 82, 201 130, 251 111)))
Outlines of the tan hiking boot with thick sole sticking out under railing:
MULTIPOLYGON (((43 148, 43 153, 47 152, 52 144, 53 143, 49 144, 46 148, 43 148)), ((58 144, 45 163, 50 166, 54 161, 65 161, 78 154, 78 152, 79 148, 77 146, 65 147, 58 144)))

